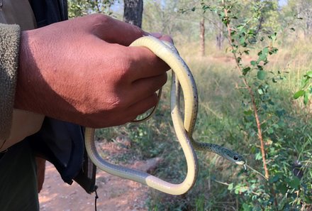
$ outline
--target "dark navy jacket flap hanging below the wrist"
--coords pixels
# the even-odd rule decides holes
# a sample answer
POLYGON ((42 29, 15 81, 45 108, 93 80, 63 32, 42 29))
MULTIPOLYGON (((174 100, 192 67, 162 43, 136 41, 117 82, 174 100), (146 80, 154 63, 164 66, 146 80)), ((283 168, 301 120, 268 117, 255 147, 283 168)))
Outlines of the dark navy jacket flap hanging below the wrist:
POLYGON ((50 161, 69 185, 75 180, 87 193, 96 190, 96 166, 84 148, 84 128, 72 123, 45 118, 38 133, 26 140, 36 156, 50 161))

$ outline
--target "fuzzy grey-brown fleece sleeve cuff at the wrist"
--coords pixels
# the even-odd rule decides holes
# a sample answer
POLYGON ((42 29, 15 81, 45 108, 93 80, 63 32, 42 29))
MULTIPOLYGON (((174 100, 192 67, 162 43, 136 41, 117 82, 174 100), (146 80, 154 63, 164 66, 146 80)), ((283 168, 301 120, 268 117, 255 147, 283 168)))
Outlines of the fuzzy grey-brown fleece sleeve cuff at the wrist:
POLYGON ((10 135, 20 38, 18 25, 0 23, 0 140, 10 135))

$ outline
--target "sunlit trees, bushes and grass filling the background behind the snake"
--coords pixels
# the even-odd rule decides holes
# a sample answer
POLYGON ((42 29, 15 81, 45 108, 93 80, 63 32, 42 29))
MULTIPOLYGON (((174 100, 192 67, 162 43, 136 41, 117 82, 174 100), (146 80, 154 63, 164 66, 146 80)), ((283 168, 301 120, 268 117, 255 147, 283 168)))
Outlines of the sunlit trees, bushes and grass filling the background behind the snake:
MULTIPOLYGON (((119 1, 69 1, 71 17, 102 12, 122 19, 122 11, 119 1)), ((200 100, 194 139, 232 148, 249 166, 244 173, 198 152, 195 187, 182 196, 150 190, 148 209, 311 210, 312 1, 145 0, 143 29, 170 34, 194 74, 200 100)), ((155 175, 184 179, 169 85, 150 121, 97 131, 99 139, 121 134, 138 158, 165 159, 155 175)))

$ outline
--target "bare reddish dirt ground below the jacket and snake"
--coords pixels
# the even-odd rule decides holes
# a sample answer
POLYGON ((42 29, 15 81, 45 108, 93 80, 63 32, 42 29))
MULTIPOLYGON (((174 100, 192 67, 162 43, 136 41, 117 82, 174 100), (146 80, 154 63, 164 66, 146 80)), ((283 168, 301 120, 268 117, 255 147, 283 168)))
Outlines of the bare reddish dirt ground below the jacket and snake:
MULTIPOLYGON (((119 148, 121 149, 119 150, 113 144, 106 144, 102 148, 106 150, 106 153, 107 151, 125 153, 124 149, 119 148)), ((129 161, 130 164, 127 166, 141 171, 150 171, 160 161, 160 158, 153 158, 148 161, 129 161)), ((89 195, 77 183, 72 185, 64 183, 51 163, 47 163, 45 171, 45 183, 39 194, 40 210, 95 210, 95 194, 89 195)), ((147 210, 145 202, 148 188, 145 185, 118 178, 103 171, 98 171, 96 174, 96 185, 99 186, 97 191, 99 195, 97 210, 99 211, 147 210)))

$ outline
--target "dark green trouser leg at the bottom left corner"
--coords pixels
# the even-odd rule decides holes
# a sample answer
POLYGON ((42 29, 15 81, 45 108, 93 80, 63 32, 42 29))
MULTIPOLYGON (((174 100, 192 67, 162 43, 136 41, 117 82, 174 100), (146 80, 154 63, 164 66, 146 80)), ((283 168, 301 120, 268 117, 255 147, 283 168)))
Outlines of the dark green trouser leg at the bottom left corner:
POLYGON ((0 210, 39 210, 35 158, 27 141, 0 153, 0 210))

